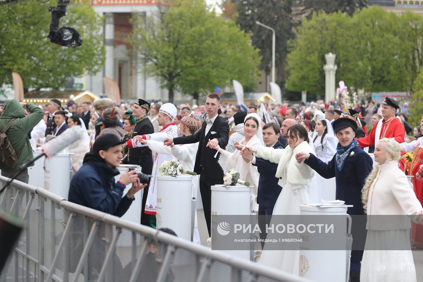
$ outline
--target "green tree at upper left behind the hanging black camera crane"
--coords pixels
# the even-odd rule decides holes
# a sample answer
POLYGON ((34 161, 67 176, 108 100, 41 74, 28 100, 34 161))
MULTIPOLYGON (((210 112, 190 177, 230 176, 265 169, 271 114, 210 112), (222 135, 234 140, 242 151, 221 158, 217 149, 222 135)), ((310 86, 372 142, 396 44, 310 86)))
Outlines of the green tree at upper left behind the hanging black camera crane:
POLYGON ((102 17, 91 5, 71 3, 60 27, 71 26, 82 36, 82 46, 60 47, 47 35, 51 13, 47 3, 27 1, 0 8, 0 84, 11 83, 11 72, 18 72, 25 88, 58 88, 65 77, 77 77, 84 70, 95 74, 104 64, 102 17))

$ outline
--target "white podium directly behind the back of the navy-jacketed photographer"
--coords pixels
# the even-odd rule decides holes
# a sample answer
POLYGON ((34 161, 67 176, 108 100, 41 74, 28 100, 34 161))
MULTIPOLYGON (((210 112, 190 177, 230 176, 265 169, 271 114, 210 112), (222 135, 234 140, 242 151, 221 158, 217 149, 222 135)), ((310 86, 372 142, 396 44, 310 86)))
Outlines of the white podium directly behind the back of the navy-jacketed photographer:
POLYGON ((44 189, 68 199, 71 184, 72 163, 70 153, 59 153, 46 159, 44 169, 44 189))

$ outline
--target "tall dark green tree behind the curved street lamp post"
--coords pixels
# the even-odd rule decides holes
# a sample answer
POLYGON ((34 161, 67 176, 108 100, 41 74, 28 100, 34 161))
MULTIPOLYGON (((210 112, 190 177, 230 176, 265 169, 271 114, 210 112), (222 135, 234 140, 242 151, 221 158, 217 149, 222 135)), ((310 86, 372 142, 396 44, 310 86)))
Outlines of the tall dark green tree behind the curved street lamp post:
POLYGON ((284 64, 288 39, 294 38, 292 5, 293 0, 239 0, 236 2, 238 23, 246 33, 252 33, 252 44, 260 49, 262 57, 260 69, 264 69, 266 75, 271 71, 272 64, 272 31, 257 25, 259 21, 275 29, 275 67, 278 70, 277 82, 284 91, 284 64))

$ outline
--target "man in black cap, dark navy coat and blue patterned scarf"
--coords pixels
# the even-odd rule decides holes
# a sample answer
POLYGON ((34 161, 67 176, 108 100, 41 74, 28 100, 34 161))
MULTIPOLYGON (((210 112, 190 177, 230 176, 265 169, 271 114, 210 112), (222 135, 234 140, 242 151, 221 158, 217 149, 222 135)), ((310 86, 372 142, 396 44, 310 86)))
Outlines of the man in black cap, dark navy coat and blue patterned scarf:
MULTIPOLYGON (((326 179, 335 177, 336 199, 345 201, 349 207, 349 215, 365 215, 363 203, 361 201, 361 189, 365 179, 373 169, 373 160, 370 156, 358 147, 355 139, 357 123, 352 119, 339 118, 333 123, 333 130, 338 138, 336 154, 329 163, 324 163, 315 155, 299 152, 295 157, 299 162, 304 163, 314 169, 318 174, 326 179)), ((364 236, 365 226, 352 224, 352 235, 360 234, 364 236)), ((363 251, 351 252, 350 281, 360 281, 360 262, 363 251)))

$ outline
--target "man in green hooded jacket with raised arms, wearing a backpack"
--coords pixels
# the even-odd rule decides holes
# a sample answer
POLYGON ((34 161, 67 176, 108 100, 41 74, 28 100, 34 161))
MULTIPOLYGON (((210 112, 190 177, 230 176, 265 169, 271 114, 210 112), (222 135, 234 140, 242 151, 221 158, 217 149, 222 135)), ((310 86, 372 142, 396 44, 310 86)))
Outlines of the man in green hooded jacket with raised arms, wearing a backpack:
MULTIPOLYGON (((2 176, 10 178, 19 169, 19 166, 34 157, 27 135, 43 116, 44 111, 33 103, 19 102, 14 99, 4 102, 3 113, 0 116, 0 130, 3 130, 11 119, 16 118, 11 127, 6 131, 6 135, 16 154, 18 154, 20 148, 22 148, 22 151, 18 154, 18 163, 16 163, 16 166, 11 169, 2 169, 2 176), (25 111, 25 107, 31 113, 30 115, 25 111)), ((30 166, 33 165, 34 163, 30 164, 30 166)), ((28 183, 28 170, 25 169, 25 171, 16 177, 16 180, 28 183)))

